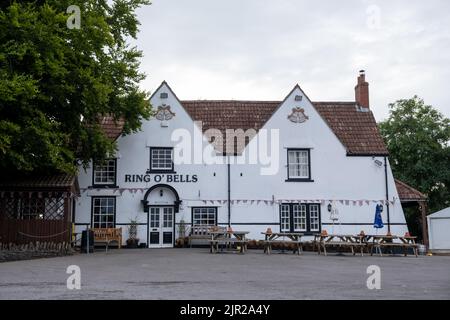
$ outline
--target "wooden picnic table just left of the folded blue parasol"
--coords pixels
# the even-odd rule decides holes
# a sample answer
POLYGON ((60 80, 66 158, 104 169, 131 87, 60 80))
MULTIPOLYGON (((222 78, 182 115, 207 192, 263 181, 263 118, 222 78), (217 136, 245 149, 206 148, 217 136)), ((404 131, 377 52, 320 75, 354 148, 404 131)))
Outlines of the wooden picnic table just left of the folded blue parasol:
POLYGON ((360 249, 361 256, 364 255, 364 248, 367 247, 366 236, 357 234, 316 234, 314 235, 314 243, 317 246, 317 253, 327 255, 327 246, 349 247, 352 254, 355 255, 355 248, 360 249))

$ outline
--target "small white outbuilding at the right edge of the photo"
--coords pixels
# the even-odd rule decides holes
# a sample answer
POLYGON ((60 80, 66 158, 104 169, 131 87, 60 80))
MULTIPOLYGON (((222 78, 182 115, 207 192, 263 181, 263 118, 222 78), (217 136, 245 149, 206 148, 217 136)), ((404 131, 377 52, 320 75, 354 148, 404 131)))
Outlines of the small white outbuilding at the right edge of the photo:
POLYGON ((427 219, 430 250, 450 252, 450 207, 430 214, 427 219))

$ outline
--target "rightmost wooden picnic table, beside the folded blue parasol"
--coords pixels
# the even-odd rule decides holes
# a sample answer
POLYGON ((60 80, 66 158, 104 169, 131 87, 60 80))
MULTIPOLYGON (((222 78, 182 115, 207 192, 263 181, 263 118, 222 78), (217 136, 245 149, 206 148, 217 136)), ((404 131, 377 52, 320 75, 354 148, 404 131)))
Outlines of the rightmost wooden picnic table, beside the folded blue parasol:
POLYGON ((417 237, 413 236, 395 236, 395 235, 366 235, 367 244, 371 247, 370 255, 373 255, 373 249, 378 249, 380 256, 383 256, 382 248, 393 247, 403 248, 403 254, 405 257, 408 255, 408 248, 412 248, 414 255, 418 257, 418 246, 416 243, 417 237), (370 241, 372 240, 372 241, 370 241), (394 242, 399 240, 399 242, 394 242))

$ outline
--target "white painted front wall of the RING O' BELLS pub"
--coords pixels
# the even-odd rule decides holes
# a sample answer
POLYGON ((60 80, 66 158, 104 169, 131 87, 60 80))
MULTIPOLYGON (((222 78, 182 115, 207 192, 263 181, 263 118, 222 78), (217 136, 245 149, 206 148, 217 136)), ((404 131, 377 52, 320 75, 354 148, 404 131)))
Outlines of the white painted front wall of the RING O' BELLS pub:
MULTIPOLYGON (((125 183, 125 174, 145 174, 149 168, 149 147, 175 146, 171 141, 171 134, 175 129, 185 129, 192 136, 201 137, 190 116, 178 102, 175 95, 166 84, 163 84, 154 94, 151 103, 156 108, 165 103, 171 106, 176 116, 167 121, 169 127, 162 128, 156 119, 145 121, 142 131, 118 139, 119 152, 117 154, 117 184, 120 188, 150 188, 155 182, 125 183), (160 92, 167 92, 168 99, 161 100, 160 92)), ((311 102, 299 87, 289 94, 284 103, 266 123, 264 129, 278 129, 280 135, 279 170, 276 175, 263 176, 260 165, 233 164, 231 165, 231 199, 234 200, 383 200, 385 199, 384 167, 378 167, 372 157, 348 157, 346 149, 314 109, 311 102), (302 95, 303 101, 294 101, 295 95, 302 95), (305 123, 295 124, 287 119, 293 107, 302 107, 309 116, 305 123), (314 182, 286 182, 287 179, 287 150, 286 148, 311 148, 311 178, 314 182), (242 173, 242 176, 241 176, 242 173)), ((261 133, 258 134, 258 138, 261 133)), ((253 148, 257 139, 253 139, 247 149, 253 148)), ((212 146, 206 141, 204 144, 212 151, 212 146)), ((240 157, 231 157, 238 160, 240 157)), ((383 158, 378 158, 383 161, 383 158)), ((227 199, 227 166, 223 165, 191 165, 183 164, 175 167, 177 174, 197 175, 196 183, 170 183, 181 200, 180 212, 176 214, 176 221, 191 222, 191 208, 193 206, 217 206, 218 222, 228 222, 226 204, 204 203, 203 200, 227 199), (215 174, 215 176, 214 176, 215 174)), ((162 181, 164 182, 164 181, 162 181)), ((92 185, 92 170, 79 174, 80 188, 92 185)), ((390 206, 391 232, 404 234, 407 226, 394 179, 388 164, 389 199, 395 201, 390 206)), ((122 195, 117 190, 90 189, 82 192, 77 201, 76 223, 77 229, 84 228, 81 224, 90 224, 91 197, 96 195, 114 195, 117 203, 116 223, 126 224, 131 218, 138 217, 142 225, 138 229, 138 237, 142 242, 147 239, 147 214, 143 212, 141 200, 144 191, 135 193, 124 191, 122 195)), ((331 231, 328 201, 321 204, 322 229, 331 231)), ((371 226, 375 213, 375 203, 369 205, 345 205, 335 203, 340 212, 341 225, 335 226, 336 233, 375 233, 371 226)), ((383 221, 387 223, 387 210, 382 213, 383 221)), ((279 205, 277 203, 264 204, 254 202, 250 204, 235 203, 231 208, 231 223, 235 230, 250 231, 249 238, 260 239, 261 232, 271 227, 279 230, 279 205), (251 224, 254 225, 251 225, 251 224)), ((119 226, 119 225, 118 225, 119 226)), ((128 232, 123 225, 124 241, 128 232)), ((387 232, 387 227, 378 231, 387 232)))

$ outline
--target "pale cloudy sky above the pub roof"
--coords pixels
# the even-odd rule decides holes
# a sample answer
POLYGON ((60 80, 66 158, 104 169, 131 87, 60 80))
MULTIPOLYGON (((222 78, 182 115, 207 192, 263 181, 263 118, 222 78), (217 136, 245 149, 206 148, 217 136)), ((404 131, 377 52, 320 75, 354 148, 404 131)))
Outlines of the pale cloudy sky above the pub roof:
POLYGON ((138 11, 143 88, 180 99, 354 100, 358 70, 377 120, 419 95, 450 116, 450 1, 153 0, 138 11))

